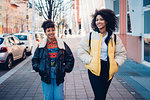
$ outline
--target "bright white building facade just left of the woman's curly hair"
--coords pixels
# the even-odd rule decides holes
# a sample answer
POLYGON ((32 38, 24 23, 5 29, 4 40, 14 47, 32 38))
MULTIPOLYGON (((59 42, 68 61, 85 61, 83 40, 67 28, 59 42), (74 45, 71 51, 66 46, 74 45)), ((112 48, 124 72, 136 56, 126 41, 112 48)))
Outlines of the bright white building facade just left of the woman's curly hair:
POLYGON ((79 16, 81 18, 81 33, 87 34, 91 31, 92 14, 96 9, 105 7, 104 0, 80 0, 79 16))

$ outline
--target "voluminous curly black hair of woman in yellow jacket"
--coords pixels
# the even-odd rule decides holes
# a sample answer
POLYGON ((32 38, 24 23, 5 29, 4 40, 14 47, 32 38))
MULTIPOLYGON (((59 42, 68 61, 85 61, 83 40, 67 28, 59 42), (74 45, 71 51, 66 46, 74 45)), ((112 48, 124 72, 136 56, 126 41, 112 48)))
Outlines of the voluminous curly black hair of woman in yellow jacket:
POLYGON ((106 21, 106 31, 113 32, 118 27, 117 17, 115 13, 110 9, 101 9, 95 10, 95 13, 92 15, 92 23, 91 27, 93 30, 97 30, 98 27, 96 26, 96 17, 97 15, 101 15, 103 19, 106 21))

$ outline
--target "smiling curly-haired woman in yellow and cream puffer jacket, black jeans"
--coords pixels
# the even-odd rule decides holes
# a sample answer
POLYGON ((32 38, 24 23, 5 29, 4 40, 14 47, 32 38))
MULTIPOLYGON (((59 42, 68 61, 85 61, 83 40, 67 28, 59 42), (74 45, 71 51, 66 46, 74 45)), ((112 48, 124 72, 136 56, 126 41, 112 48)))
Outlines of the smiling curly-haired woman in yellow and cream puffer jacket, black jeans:
POLYGON ((94 100, 105 100, 114 74, 125 62, 126 50, 113 32, 117 17, 110 9, 96 10, 91 23, 93 31, 79 43, 78 56, 88 68, 94 100))

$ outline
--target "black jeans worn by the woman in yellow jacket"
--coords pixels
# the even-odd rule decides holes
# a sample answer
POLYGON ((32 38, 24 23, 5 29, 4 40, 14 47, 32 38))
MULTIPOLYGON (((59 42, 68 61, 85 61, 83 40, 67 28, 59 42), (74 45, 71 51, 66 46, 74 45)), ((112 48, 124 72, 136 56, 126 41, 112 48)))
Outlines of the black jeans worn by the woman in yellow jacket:
POLYGON ((100 76, 96 76, 88 70, 90 83, 95 95, 94 100, 105 100, 106 94, 111 83, 109 79, 109 66, 107 62, 101 60, 101 73, 100 76))

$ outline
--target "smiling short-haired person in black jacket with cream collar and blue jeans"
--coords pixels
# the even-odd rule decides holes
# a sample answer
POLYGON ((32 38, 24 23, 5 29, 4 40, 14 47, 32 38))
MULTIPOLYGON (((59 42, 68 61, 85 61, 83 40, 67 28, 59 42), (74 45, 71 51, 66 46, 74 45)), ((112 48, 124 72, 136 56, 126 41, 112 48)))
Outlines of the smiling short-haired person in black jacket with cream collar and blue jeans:
POLYGON ((46 37, 35 50, 32 66, 41 76, 44 100, 64 100, 64 77, 72 71, 74 57, 68 45, 55 36, 53 21, 44 21, 42 28, 46 37))

